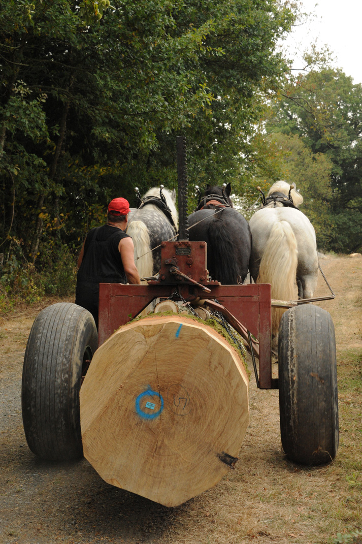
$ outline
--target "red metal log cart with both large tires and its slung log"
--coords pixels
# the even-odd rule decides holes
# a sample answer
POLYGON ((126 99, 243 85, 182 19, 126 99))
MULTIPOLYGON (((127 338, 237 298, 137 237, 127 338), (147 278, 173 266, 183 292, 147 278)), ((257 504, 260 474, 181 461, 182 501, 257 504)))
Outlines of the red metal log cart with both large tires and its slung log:
POLYGON ((206 244, 189 242, 185 224, 180 233, 185 239, 162 243, 159 279, 100 284, 98 335, 91 314, 74 304, 40 312, 22 382, 24 430, 35 454, 66 460, 84 453, 108 483, 166 506, 209 489, 233 468, 248 424, 248 379, 236 351, 211 327, 180 314, 132 321, 154 299, 204 300, 239 332, 259 359, 258 387, 279 387, 291 460, 325 463, 338 448, 329 314, 311 305, 284 313, 279 378, 272 378, 270 285, 209 281, 206 244))

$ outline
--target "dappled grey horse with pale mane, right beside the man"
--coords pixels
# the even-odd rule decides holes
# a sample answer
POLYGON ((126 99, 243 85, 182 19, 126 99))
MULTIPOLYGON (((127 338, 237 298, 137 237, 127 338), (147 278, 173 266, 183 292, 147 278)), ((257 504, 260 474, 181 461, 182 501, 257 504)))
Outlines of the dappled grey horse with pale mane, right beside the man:
POLYGON ((127 234, 133 239, 134 258, 142 278, 161 268, 161 242, 176 239, 178 213, 176 191, 153 187, 142 196, 139 208, 130 208, 127 234))

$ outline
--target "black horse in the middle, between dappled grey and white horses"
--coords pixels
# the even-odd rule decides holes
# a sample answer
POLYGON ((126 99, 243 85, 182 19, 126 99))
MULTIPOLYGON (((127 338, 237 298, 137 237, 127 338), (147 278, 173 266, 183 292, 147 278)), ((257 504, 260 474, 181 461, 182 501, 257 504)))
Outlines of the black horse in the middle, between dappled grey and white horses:
POLYGON ((223 285, 243 283, 249 267, 252 238, 249 225, 230 199, 231 186, 207 186, 189 215, 189 239, 207 243, 207 269, 223 285))

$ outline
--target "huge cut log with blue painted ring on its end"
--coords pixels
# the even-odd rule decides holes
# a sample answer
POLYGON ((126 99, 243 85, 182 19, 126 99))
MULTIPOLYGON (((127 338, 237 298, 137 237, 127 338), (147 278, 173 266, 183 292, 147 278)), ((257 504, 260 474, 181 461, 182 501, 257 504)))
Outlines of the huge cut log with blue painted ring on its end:
POLYGON ((165 506, 233 467, 248 416, 237 351, 177 314, 121 327, 96 351, 80 390, 86 459, 108 483, 165 506))

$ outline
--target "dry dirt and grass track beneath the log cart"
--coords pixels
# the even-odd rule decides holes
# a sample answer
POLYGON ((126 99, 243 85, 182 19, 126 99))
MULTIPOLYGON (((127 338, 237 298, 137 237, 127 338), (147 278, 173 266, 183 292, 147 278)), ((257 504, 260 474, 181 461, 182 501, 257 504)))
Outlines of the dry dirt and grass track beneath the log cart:
MULTIPOLYGON (((21 418, 24 350, 39 308, 0 322, 0 543, 318 544, 362 517, 362 258, 322 269, 336 299, 340 449, 334 463, 294 465, 280 445, 277 391, 250 384, 250 424, 234 471, 213 489, 165 508, 106 484, 86 460, 47 463, 30 452, 21 418), (348 377, 349 376, 349 377, 348 377), (352 379, 355 381, 353 382, 352 379), (354 485, 355 484, 355 485, 354 485)), ((318 292, 327 295, 322 278, 318 292)))

